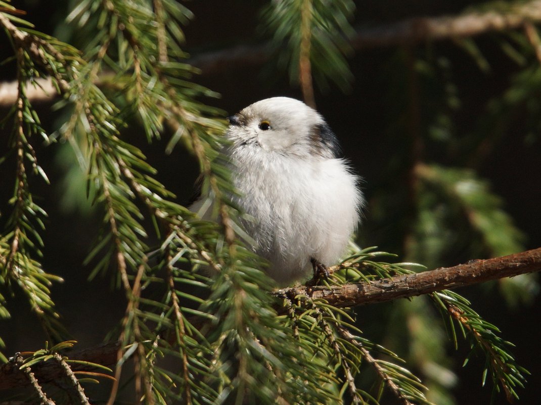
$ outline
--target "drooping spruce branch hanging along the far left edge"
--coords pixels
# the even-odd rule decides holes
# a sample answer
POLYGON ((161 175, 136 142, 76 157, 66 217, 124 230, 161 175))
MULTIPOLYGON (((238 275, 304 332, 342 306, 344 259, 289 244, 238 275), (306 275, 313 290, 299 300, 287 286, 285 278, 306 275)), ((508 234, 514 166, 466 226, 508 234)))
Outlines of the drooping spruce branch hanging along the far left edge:
MULTIPOLYGON (((13 131, 8 142, 16 157, 16 178, 14 195, 9 201, 13 209, 0 235, 0 280, 8 288, 10 283, 19 286, 45 331, 54 338, 60 338, 64 330, 57 322, 58 313, 51 300, 49 288, 53 281, 60 282, 62 279, 46 273, 37 259, 42 256, 43 240, 40 230, 44 229, 43 219, 47 217, 47 213, 34 201, 28 170, 31 168, 32 174, 38 175, 46 183, 49 182, 47 175, 38 165, 36 152, 30 143, 34 135, 45 139, 47 135, 26 91, 28 85, 38 85, 36 78, 41 74, 40 66, 45 63, 47 55, 42 42, 32 42, 34 37, 17 29, 9 18, 0 12, 0 24, 4 26, 14 47, 17 97, 2 126, 12 117, 13 131), (38 61, 35 62, 32 57, 38 58, 38 61)), ((2 157, 2 161, 4 158, 2 157)), ((0 308, 0 315, 9 316, 3 306, 0 308)))

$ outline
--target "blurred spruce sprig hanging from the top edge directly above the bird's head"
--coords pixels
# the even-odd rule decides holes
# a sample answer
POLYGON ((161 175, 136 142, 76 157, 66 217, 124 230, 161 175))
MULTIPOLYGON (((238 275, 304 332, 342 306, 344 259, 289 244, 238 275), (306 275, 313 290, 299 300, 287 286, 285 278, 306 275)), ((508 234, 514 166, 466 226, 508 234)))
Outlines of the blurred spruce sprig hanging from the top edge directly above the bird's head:
POLYGON ((353 79, 345 54, 354 33, 348 21, 354 9, 351 0, 294 0, 272 2, 263 10, 262 23, 272 33, 278 63, 291 82, 300 84, 311 107, 315 107, 312 77, 323 89, 330 81, 342 90, 353 79))

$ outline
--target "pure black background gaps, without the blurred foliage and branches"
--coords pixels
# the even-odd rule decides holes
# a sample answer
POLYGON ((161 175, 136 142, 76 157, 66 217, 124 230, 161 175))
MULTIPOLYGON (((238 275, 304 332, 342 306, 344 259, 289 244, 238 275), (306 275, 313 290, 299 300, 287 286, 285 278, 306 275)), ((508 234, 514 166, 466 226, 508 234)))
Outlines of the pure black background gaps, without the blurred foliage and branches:
MULTIPOLYGON (((258 10, 266 2, 255 0, 208 0, 186 2, 195 14, 194 21, 186 27, 186 49, 192 56, 204 52, 234 47, 237 44, 255 44, 261 41, 256 27, 258 26, 258 10)), ((357 25, 378 25, 399 21, 413 16, 436 16, 456 14, 469 1, 358 1, 357 25)), ((479 2, 480 3, 480 2, 479 2)), ((56 35, 61 39, 69 38, 70 28, 62 28, 59 23, 67 15, 68 1, 15 1, 17 8, 27 10, 28 21, 36 25, 36 29, 56 35)), ((0 39, 0 59, 11 55, 8 41, 0 39)), ((458 131, 469 132, 477 117, 486 108, 486 103, 507 88, 516 65, 502 57, 498 47, 493 45, 491 35, 477 38, 484 55, 491 64, 490 73, 482 72, 471 58, 458 49, 451 41, 439 42, 438 52, 445 54, 453 63, 454 82, 463 103, 454 115, 454 124, 458 131)), ((423 45, 420 45, 422 47, 423 45)), ((337 89, 321 94, 316 91, 318 110, 326 118, 331 128, 338 134, 347 158, 355 170, 365 180, 365 192, 370 200, 371 192, 378 184, 386 183, 387 167, 394 153, 394 137, 388 132, 387 123, 392 118, 388 107, 393 100, 391 86, 397 80, 393 77, 393 55, 397 48, 388 47, 357 52, 349 59, 355 81, 348 94, 337 89)), ((266 62, 268 67, 268 63, 266 62)), ((12 80, 15 72, 12 64, 0 66, 0 80, 12 80)), ((271 96, 291 96, 301 98, 298 88, 289 84, 283 72, 264 69, 262 63, 251 61, 234 67, 214 69, 202 72, 197 82, 206 85, 221 94, 219 99, 205 102, 222 108, 228 114, 240 110, 246 105, 271 96)), ((56 127, 55 113, 50 103, 42 103, 37 107, 46 129, 56 127)), ((393 107, 395 108, 395 107, 393 107)), ((404 106, 404 108, 407 108, 404 106)), ((0 108, 0 118, 7 112, 5 106, 0 108)), ((422 114, 422 112, 421 112, 422 114)), ((9 127, 8 127, 9 128, 9 127)), ((133 127, 132 127, 133 128, 133 127)), ((163 150, 167 143, 167 134, 162 142, 146 144, 144 135, 130 128, 125 134, 129 142, 143 148, 151 165, 159 170, 160 180, 174 191, 180 202, 185 202, 192 193, 192 184, 197 176, 197 165, 193 158, 181 148, 173 154, 166 155, 163 150)), ((3 155, 9 132, 0 130, 0 152, 3 155)), ((407 136, 407 135, 404 135, 407 136)), ((43 238, 47 241, 44 251, 43 265, 47 271, 61 275, 65 282, 55 284, 52 296, 62 314, 62 321, 80 342, 80 347, 87 347, 98 342, 104 334, 113 328, 123 316, 123 293, 109 287, 109 277, 96 278, 88 282, 88 268, 82 262, 93 243, 98 229, 100 215, 81 215, 80 211, 62 208, 58 200, 62 188, 59 183, 63 178, 65 166, 58 158, 58 150, 62 145, 45 148, 35 142, 38 160, 47 172, 51 184, 47 186, 41 181, 31 179, 37 202, 47 211, 49 217, 43 238)), ((517 227, 526 235, 525 247, 541 246, 541 145, 539 139, 533 143, 524 142, 520 122, 502 138, 488 156, 479 165, 481 177, 490 181, 492 190, 504 200, 504 206, 517 227)), ((427 152, 430 154, 430 151, 427 152)), ((437 154, 425 156, 427 161, 452 165, 448 156, 437 154)), ((0 212, 9 212, 6 204, 11 195, 14 178, 14 165, 10 160, 0 165, 0 212)), ((393 229, 371 229, 370 208, 365 212, 368 218, 366 226, 361 230, 361 240, 366 245, 378 244, 381 250, 392 250, 385 245, 388 234, 393 229), (375 236, 374 236, 375 235, 375 236)), ((0 218, 1 221, 1 218, 0 218)), ((460 256, 457 253, 458 264, 460 256)), ((541 366, 539 365, 539 309, 541 301, 537 296, 531 306, 520 306, 509 309, 503 299, 495 291, 493 294, 480 293, 476 288, 459 291, 472 301, 473 308, 488 321, 502 329, 503 337, 516 344, 513 353, 517 362, 530 370, 532 375, 525 390, 519 390, 520 403, 537 404, 538 386, 541 384, 541 366)), ((388 304, 385 310, 392 311, 388 304)), ((0 321, 0 336, 4 338, 4 353, 11 355, 16 351, 41 348, 45 337, 36 333, 36 321, 28 315, 27 304, 20 298, 11 301, 9 309, 12 320, 0 321)), ((371 318, 370 308, 362 309, 359 317, 365 322, 377 322, 371 318)), ((457 364, 467 353, 467 344, 463 344, 456 355, 457 364)), ((457 403, 480 404, 490 402, 490 388, 480 387, 482 359, 472 361, 467 368, 457 368, 460 383, 454 395, 457 403)), ((500 395, 496 403, 505 403, 500 395)))

